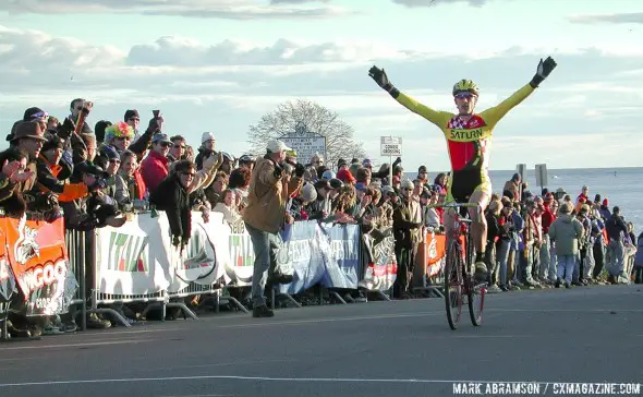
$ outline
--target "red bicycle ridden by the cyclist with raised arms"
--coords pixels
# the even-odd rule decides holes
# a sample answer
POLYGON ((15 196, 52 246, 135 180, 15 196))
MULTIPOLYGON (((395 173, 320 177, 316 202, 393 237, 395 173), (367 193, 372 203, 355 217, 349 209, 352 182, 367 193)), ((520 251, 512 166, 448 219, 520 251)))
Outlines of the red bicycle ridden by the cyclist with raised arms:
POLYGON ((475 284, 473 277, 473 240, 471 227, 473 222, 468 217, 466 208, 478 208, 475 203, 465 204, 436 204, 433 208, 454 208, 454 225, 447 234, 447 258, 444 269, 445 276, 445 304, 447 321, 451 329, 456 330, 462 315, 463 296, 466 294, 469 315, 474 326, 482 324, 486 282, 475 284), (461 212, 464 209, 464 215, 461 212), (463 246, 465 250, 463 250, 463 246))

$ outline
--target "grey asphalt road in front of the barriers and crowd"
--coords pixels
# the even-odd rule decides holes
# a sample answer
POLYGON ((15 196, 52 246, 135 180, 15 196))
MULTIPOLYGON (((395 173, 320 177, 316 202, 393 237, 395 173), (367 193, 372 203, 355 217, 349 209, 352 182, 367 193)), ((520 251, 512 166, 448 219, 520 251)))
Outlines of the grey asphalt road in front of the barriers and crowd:
POLYGON ((466 316, 456 332, 433 298, 3 344, 0 396, 451 396, 454 381, 643 380, 643 287, 487 298, 483 326, 466 316))

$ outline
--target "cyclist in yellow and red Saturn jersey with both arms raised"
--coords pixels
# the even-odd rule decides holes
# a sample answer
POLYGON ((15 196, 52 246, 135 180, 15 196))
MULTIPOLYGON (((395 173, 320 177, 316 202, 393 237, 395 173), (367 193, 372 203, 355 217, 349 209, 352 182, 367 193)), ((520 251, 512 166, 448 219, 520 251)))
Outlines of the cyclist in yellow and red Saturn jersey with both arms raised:
MULTIPOLYGON (((446 203, 469 202, 478 204, 481 208, 469 209, 473 220, 471 232, 475 244, 475 279, 478 281, 484 281, 487 277, 487 266, 484 263, 487 224, 485 217, 480 214, 486 208, 492 195, 488 167, 494 128, 509 110, 530 96, 555 68, 556 62, 551 57, 544 61, 541 59, 536 74, 529 84, 499 105, 481 113, 473 112, 480 95, 478 86, 471 80, 461 80, 453 85, 457 115, 436 111, 400 93, 388 80, 384 69, 373 67, 368 71, 368 75, 398 103, 437 125, 445 134, 451 160, 451 178, 446 203)), ((449 208, 445 213, 447 229, 452 228, 453 217, 454 210, 449 208)))

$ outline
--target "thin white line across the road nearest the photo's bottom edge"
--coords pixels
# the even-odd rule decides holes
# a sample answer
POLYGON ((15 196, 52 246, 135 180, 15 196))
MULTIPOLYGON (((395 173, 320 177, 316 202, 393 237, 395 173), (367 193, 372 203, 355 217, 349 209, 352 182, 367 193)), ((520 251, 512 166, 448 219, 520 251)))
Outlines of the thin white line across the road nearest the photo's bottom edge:
POLYGON ((548 382, 519 382, 519 381, 459 381, 459 380, 396 380, 396 378, 359 378, 359 377, 268 377, 268 376, 234 376, 234 375, 202 375, 202 376, 163 376, 163 377, 130 377, 113 380, 76 380, 76 381, 49 381, 4 383, 0 387, 28 387, 28 386, 57 386, 82 385, 99 383, 139 383, 139 382, 171 382, 171 381, 253 381, 253 382, 295 382, 295 383, 418 383, 418 384, 445 384, 445 383, 532 383, 547 384, 548 382))

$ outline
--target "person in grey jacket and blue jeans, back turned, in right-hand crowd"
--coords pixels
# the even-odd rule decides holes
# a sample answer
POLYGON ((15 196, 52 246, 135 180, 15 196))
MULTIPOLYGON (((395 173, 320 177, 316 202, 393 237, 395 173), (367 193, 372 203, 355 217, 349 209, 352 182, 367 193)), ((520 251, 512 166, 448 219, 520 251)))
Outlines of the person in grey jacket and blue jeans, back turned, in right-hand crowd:
POLYGON ((560 206, 558 218, 549 227, 549 238, 556 242, 558 273, 556 288, 565 280, 565 287, 571 288, 574 266, 579 255, 579 241, 583 237, 583 226, 572 217, 571 203, 560 206))

